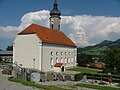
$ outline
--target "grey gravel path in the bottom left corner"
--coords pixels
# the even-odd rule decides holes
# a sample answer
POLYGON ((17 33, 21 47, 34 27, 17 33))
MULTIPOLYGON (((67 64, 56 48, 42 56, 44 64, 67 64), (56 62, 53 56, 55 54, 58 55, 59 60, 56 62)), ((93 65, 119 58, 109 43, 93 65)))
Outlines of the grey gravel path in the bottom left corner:
POLYGON ((40 90, 38 88, 24 86, 20 83, 10 82, 7 79, 8 77, 9 75, 2 75, 0 72, 0 90, 40 90))

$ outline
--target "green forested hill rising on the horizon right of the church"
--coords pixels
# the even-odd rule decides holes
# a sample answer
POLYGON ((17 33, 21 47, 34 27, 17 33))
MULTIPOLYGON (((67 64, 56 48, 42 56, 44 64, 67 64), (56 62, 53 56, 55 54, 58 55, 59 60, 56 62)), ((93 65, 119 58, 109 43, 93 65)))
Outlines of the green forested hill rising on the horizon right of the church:
POLYGON ((120 39, 116 41, 104 40, 103 42, 96 44, 94 46, 78 48, 78 53, 99 55, 104 53, 109 48, 120 48, 120 39))

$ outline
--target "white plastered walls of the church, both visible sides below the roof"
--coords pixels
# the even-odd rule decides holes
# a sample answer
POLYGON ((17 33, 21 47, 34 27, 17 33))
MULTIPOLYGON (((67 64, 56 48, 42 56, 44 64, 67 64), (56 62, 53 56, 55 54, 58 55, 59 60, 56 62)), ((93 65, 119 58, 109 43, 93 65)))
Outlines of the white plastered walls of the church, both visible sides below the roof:
POLYGON ((54 71, 56 63, 76 66, 77 48, 42 43, 36 34, 18 35, 13 44, 13 62, 25 68, 54 71))

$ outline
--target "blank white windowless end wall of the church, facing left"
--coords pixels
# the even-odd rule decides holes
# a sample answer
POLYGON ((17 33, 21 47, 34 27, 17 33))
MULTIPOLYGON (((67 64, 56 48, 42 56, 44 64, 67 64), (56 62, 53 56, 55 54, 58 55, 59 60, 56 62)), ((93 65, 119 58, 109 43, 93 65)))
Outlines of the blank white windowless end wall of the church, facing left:
POLYGON ((41 70, 40 39, 36 34, 18 35, 13 44, 13 62, 26 68, 41 70))

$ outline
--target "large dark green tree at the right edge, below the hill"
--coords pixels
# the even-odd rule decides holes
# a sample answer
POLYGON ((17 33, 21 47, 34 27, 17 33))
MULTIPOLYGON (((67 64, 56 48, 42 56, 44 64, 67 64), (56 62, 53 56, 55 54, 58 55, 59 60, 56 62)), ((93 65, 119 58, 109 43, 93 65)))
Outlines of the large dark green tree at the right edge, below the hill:
POLYGON ((107 51, 105 58, 106 69, 114 74, 120 74, 120 48, 107 51))

